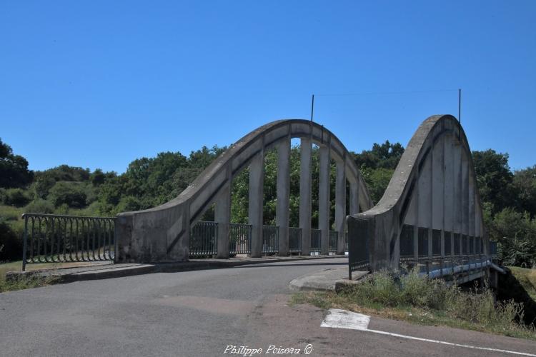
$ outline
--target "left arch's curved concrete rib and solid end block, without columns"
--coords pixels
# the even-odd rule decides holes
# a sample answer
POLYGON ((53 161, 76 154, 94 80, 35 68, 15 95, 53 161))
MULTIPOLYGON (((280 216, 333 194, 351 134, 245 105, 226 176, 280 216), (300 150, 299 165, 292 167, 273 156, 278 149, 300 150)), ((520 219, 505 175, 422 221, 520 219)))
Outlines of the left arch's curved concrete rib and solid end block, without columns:
MULTIPOLYGON (((308 143, 309 146, 314 143, 321 147, 321 151, 322 148, 327 149, 329 153, 327 158, 331 157, 337 162, 337 167, 344 168, 344 175, 354 188, 354 197, 357 195, 359 198, 359 206, 362 209, 372 207, 364 180, 348 150, 337 136, 312 121, 302 119, 272 121, 229 146, 229 149, 215 159, 177 198, 144 211, 120 213, 116 228, 117 260, 138 262, 186 260, 189 256, 190 227, 212 203, 219 200, 219 197, 227 196, 229 201, 232 178, 248 165, 262 165, 259 157, 262 159, 264 151, 284 147, 287 144, 289 146, 291 138, 301 138, 302 146, 303 143, 308 143)), ((250 173, 250 182, 251 179, 250 173)), ((260 180, 256 187, 262 190, 262 178, 260 180)), ((251 188, 252 186, 250 191, 251 188)), ((217 203, 216 215, 219 214, 218 206, 217 203)), ((229 207, 222 209, 229 211, 229 207)), ((354 205, 353 213, 357 211, 359 207, 354 205)), ((342 221, 344 222, 344 218, 342 221)))

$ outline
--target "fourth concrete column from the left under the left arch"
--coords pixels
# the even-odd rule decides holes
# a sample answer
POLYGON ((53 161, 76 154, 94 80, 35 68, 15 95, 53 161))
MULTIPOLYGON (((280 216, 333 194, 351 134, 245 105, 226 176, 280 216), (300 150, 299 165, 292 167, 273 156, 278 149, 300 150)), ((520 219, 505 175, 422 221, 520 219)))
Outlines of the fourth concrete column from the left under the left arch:
POLYGON ((299 152, 299 228, 302 228, 302 255, 311 253, 311 139, 303 138, 299 152))

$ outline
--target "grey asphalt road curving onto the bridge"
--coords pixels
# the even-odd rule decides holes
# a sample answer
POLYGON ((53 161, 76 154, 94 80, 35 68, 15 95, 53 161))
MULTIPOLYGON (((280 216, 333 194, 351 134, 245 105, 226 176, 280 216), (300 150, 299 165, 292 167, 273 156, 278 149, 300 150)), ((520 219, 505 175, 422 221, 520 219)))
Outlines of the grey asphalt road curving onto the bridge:
MULTIPOLYGON (((514 356, 321 328, 325 312, 288 306, 288 283, 344 258, 154 273, 0 293, 1 356, 222 356, 227 346, 308 346, 309 356, 514 356)), ((370 328, 536 353, 536 343, 372 318, 370 328)), ((243 356, 244 353, 227 355, 243 356)), ((273 355, 274 350, 269 354, 273 355)), ((259 356, 259 355, 253 355, 259 356)), ((281 355, 279 355, 281 356, 281 355)))

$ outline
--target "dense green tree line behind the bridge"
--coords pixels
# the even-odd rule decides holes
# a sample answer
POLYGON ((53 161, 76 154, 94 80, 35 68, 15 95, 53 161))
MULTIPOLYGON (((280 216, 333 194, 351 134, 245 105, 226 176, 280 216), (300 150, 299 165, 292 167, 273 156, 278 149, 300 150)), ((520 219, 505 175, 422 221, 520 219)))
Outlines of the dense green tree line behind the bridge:
MULTIPOLYGON (((214 146, 192 151, 189 156, 164 152, 153 158, 132 161, 124 174, 91 171, 67 165, 32 172, 22 156, 0 141, 0 261, 21 255, 20 213, 59 213, 79 216, 114 216, 122 211, 151 208, 176 197, 226 148, 214 146)), ((374 144, 371 150, 352 153, 377 203, 396 168, 401 144, 374 144)), ((505 263, 533 266, 536 263, 536 166, 514 171, 508 155, 493 150, 472 153, 490 237, 500 242, 505 263)), ((312 155, 312 226, 318 224, 318 159, 312 155)), ((265 156, 264 224, 275 224, 277 203, 277 152, 265 156)), ((299 219, 299 146, 291 149, 290 225, 299 219)), ((331 218, 334 223, 335 166, 331 168, 331 218)), ((232 185, 232 221, 247 223, 249 171, 244 169, 232 185)), ((348 188, 347 188, 348 195, 348 188)), ((347 206, 349 200, 347 199, 347 206)), ((209 209, 204 219, 212 220, 209 209)))

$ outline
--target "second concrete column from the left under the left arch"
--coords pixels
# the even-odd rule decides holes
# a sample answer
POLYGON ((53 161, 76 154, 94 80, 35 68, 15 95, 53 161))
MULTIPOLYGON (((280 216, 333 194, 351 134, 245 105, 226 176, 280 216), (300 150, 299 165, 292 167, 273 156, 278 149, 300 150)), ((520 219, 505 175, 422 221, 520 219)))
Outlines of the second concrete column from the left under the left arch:
POLYGON ((264 149, 249 164, 249 224, 252 225, 252 257, 262 256, 262 208, 264 201, 264 149))

